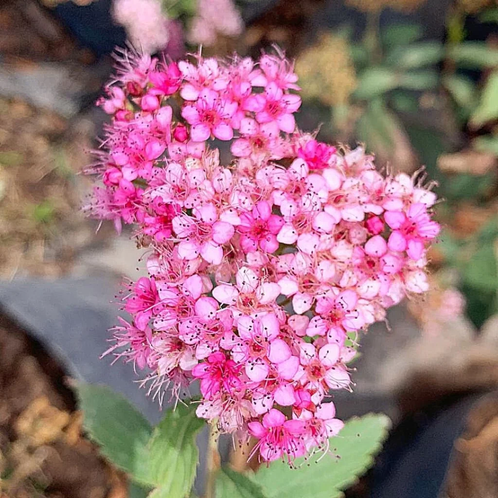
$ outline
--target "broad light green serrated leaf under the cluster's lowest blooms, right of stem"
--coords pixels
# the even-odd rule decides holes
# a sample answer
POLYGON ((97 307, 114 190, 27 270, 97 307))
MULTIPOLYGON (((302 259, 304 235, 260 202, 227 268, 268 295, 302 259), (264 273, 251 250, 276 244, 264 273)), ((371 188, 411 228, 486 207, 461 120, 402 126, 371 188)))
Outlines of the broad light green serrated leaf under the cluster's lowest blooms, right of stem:
POLYGON ((306 462, 297 459, 298 469, 284 462, 262 467, 254 481, 262 486, 267 498, 338 498, 372 464, 387 435, 390 421, 385 415, 368 414, 352 418, 337 437, 330 439, 336 456, 306 462))

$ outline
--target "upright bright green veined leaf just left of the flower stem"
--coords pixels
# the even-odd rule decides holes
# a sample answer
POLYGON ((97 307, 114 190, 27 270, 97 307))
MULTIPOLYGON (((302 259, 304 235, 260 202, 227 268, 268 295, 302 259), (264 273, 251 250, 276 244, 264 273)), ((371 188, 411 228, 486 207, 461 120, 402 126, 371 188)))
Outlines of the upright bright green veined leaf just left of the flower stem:
POLYGON ((199 450, 195 438, 205 421, 195 407, 182 404, 167 411, 150 442, 150 476, 158 489, 154 498, 183 498, 194 484, 199 450))

